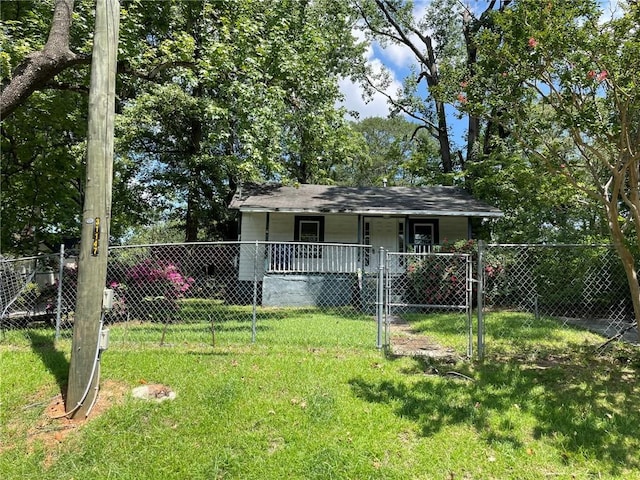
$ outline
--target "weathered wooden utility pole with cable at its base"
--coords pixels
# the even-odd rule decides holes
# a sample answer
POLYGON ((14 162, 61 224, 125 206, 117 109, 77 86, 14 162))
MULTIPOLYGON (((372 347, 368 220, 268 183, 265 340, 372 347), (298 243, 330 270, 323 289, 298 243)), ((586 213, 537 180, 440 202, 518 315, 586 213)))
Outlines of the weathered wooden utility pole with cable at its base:
POLYGON ((96 0, 78 297, 65 405, 70 417, 88 415, 100 380, 99 345, 111 220, 119 23, 119 1, 96 0))

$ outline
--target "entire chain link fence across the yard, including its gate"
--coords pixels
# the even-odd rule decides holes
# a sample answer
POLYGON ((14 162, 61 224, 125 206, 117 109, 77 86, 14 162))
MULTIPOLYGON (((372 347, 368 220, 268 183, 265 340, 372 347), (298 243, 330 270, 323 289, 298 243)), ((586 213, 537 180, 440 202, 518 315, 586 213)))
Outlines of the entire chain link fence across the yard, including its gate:
MULTIPOLYGON (((2 341, 28 340, 35 329, 70 340, 76 281, 64 250, 3 258, 2 341)), ((264 320, 318 315, 378 319, 377 346, 408 354, 520 356, 552 342, 637 342, 610 246, 480 243, 473 254, 294 242, 122 246, 110 248, 107 288, 113 346, 247 344, 268 333, 264 320)))

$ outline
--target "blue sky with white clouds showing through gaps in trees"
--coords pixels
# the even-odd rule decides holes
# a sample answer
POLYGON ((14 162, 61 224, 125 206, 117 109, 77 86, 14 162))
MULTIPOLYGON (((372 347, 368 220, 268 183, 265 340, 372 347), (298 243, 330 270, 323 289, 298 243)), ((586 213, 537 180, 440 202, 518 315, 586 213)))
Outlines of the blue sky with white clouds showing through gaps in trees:
MULTIPOLYGON (((431 0, 415 0, 414 1, 414 17, 421 18, 431 0)), ((471 10, 480 12, 488 5, 487 0, 460 0, 461 3, 467 5, 471 10)), ((562 1, 562 0, 560 0, 562 1)), ((600 0, 605 12, 604 19, 611 18, 616 12, 619 12, 618 3, 623 0, 600 0)), ((354 35, 360 40, 364 40, 364 34, 354 30, 354 35)), ((402 79, 409 69, 415 64, 415 57, 408 48, 399 45, 388 45, 382 47, 377 43, 369 45, 365 53, 367 63, 374 69, 379 71, 386 69, 391 74, 392 82, 387 89, 387 93, 394 94, 402 85, 402 79)), ((359 113, 360 119, 366 117, 386 117, 389 114, 389 105, 386 98, 382 94, 374 95, 369 101, 365 102, 362 98, 363 89, 357 83, 348 79, 340 82, 340 89, 345 97, 342 103, 348 110, 359 113)), ((451 126, 454 130, 458 130, 459 135, 463 134, 463 126, 456 125, 460 120, 450 119, 451 126)))

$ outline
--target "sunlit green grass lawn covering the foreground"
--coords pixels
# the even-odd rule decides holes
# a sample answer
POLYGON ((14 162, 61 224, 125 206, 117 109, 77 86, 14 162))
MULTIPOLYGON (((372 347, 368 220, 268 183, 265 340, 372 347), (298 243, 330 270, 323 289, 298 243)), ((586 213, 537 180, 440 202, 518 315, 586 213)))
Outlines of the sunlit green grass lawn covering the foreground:
MULTIPOLYGON (((160 382, 178 396, 126 396, 53 446, 33 432, 56 428, 43 412, 64 383, 69 342, 9 332, 0 478, 640 478, 638 352, 595 356, 600 337, 568 329, 516 335, 522 318, 501 315, 493 331, 507 325, 518 350, 503 332, 484 363, 460 365, 387 358, 372 320, 331 314, 263 315, 255 344, 250 320, 219 322, 215 347, 202 340, 207 323, 169 325, 170 347, 157 343, 162 325, 112 325, 102 383, 160 382), (152 340, 132 348, 137 335, 152 340)), ((412 321, 431 322, 430 334, 449 325, 412 321)))

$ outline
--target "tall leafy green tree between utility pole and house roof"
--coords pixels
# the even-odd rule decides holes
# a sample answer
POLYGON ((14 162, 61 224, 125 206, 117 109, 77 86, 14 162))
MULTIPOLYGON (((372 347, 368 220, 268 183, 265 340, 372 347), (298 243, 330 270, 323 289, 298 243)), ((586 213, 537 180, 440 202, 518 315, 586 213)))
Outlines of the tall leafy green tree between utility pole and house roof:
MULTIPOLYGON (((125 17, 138 23, 146 5, 131 2, 125 17)), ((132 70, 144 65, 148 74, 132 82, 137 98, 124 110, 121 146, 147 161, 141 178, 177 206, 185 238, 224 234, 240 181, 330 181, 348 149, 337 78, 359 58, 346 7, 234 0, 157 8, 168 20, 154 27, 149 19, 132 48, 132 70)))

